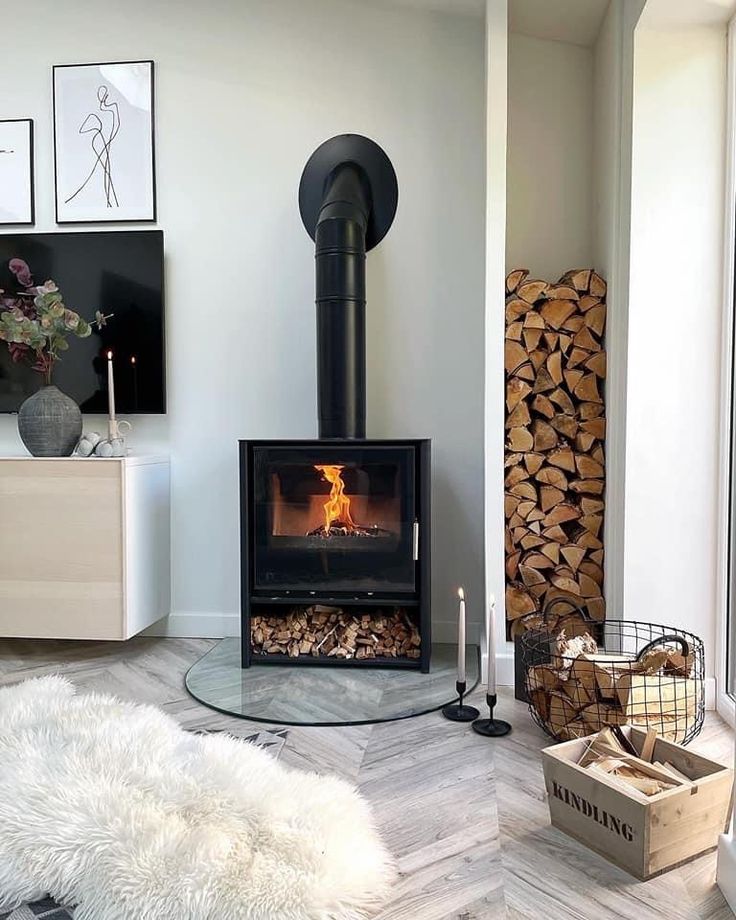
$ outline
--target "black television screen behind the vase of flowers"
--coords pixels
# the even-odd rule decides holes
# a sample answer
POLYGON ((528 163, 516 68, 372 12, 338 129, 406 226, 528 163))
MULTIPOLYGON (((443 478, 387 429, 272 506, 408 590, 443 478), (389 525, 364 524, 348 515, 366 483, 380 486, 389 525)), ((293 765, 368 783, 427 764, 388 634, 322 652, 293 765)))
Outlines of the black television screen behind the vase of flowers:
MULTIPOLYGON (((53 383, 83 412, 107 412, 112 351, 117 411, 166 412, 162 231, 0 234, 0 289, 6 292, 18 290, 8 268, 15 258, 28 264, 36 284, 55 281, 66 306, 84 319, 94 319, 96 310, 113 314, 89 338, 70 336, 53 383)), ((37 372, 14 363, 0 341, 0 412, 17 412, 42 383, 37 372)))

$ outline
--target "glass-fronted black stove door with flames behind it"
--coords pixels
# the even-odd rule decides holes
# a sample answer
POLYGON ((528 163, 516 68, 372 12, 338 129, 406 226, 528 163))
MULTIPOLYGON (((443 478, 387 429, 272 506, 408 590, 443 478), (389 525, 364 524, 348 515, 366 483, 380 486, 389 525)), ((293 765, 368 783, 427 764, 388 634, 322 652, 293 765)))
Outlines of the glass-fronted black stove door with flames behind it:
POLYGON ((415 590, 411 447, 254 449, 254 588, 415 590))

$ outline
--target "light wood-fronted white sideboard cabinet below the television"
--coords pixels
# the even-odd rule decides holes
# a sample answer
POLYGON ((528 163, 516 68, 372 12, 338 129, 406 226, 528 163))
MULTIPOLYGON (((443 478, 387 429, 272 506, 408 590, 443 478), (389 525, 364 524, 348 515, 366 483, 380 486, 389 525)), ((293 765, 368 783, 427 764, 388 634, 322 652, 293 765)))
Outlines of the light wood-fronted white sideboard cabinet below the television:
POLYGON ((170 611, 162 457, 0 459, 0 637, 129 639, 170 611))

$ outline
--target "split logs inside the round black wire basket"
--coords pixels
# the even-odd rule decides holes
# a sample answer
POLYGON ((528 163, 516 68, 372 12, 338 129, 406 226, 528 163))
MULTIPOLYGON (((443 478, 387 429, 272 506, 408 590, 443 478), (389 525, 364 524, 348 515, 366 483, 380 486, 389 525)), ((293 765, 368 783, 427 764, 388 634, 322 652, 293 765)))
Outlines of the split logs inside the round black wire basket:
POLYGON ((599 649, 587 633, 568 638, 563 630, 549 663, 528 669, 526 689, 540 721, 561 741, 632 724, 681 743, 700 695, 694 663, 689 648, 666 641, 634 659, 599 649))

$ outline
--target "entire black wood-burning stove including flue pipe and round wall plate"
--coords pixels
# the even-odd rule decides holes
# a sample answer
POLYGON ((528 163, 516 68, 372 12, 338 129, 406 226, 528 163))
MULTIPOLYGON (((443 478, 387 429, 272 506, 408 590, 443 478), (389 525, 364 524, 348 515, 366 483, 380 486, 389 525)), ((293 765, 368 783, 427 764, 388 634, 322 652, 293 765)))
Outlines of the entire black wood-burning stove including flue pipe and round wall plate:
POLYGON ((429 670, 430 442, 365 438, 365 254, 397 199, 388 157, 358 135, 302 176, 320 438, 240 442, 243 667, 429 670))

